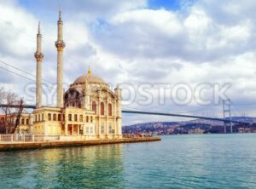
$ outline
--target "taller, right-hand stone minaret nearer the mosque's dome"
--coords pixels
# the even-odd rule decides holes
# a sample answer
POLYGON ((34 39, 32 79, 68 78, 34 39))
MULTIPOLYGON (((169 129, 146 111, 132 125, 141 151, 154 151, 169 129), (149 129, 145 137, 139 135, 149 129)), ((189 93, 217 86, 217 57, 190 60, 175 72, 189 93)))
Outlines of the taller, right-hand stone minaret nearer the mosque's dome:
POLYGON ((59 11, 58 20, 58 39, 55 42, 55 47, 58 51, 57 56, 57 107, 63 107, 63 49, 65 48, 63 41, 63 22, 61 20, 61 10, 59 11))

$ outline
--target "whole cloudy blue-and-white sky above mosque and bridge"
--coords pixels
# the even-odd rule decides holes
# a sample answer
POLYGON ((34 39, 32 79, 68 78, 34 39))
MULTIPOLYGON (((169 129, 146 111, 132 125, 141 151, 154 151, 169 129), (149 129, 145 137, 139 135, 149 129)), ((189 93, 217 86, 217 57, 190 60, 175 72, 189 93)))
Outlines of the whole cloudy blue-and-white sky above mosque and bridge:
MULTIPOLYGON (((256 116, 255 7, 253 0, 0 0, 0 85, 35 103, 40 20, 44 105, 54 106, 61 8, 65 89, 90 66, 111 89, 120 84, 124 109, 222 117, 221 99, 230 99, 232 115, 256 116)), ((124 125, 179 120, 123 115, 124 125)))

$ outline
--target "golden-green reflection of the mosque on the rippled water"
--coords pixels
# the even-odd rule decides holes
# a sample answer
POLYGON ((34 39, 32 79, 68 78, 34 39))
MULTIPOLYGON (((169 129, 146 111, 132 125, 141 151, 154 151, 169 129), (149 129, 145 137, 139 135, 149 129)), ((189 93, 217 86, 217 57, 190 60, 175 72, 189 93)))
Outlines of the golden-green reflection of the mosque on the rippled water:
POLYGON ((122 155, 121 144, 2 152, 1 186, 123 188, 122 155))

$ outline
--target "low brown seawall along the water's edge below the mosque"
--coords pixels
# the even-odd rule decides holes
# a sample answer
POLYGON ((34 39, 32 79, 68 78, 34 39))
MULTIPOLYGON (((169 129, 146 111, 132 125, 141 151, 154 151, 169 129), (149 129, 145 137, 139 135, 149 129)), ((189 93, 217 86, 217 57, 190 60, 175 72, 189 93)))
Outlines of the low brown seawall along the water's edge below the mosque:
POLYGON ((23 142, 23 143, 0 143, 0 151, 15 151, 26 149, 42 149, 65 146, 94 146, 108 145, 119 143, 136 143, 160 141, 160 137, 143 137, 143 138, 124 138, 115 140, 73 140, 73 141, 43 141, 43 142, 23 142))

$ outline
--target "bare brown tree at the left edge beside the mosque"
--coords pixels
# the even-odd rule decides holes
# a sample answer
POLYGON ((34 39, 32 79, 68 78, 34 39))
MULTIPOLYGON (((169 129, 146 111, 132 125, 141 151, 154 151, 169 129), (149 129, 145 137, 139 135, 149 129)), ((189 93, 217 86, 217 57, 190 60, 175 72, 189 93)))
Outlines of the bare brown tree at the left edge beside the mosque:
POLYGON ((23 100, 12 91, 0 88, 0 110, 3 113, 3 123, 0 123, 0 132, 14 134, 20 123, 20 115, 23 112, 23 100))

